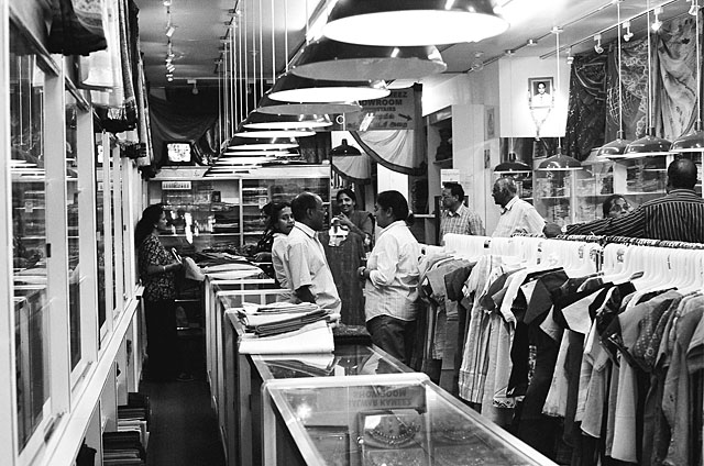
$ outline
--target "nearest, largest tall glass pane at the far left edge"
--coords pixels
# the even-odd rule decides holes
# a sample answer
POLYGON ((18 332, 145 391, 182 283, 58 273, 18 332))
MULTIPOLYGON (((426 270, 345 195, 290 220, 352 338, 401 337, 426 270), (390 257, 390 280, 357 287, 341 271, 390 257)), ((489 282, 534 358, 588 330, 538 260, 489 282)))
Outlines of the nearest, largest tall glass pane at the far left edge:
POLYGON ((12 252, 18 442, 26 445, 48 400, 44 73, 12 26, 10 33, 12 252))

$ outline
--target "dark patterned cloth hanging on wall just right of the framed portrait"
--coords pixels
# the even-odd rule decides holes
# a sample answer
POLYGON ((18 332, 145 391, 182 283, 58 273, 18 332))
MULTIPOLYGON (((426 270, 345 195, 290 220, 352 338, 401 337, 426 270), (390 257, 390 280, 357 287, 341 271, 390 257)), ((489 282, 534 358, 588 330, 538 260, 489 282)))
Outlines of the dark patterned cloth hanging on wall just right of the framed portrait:
POLYGON ((565 141, 568 154, 584 160, 604 144, 606 118, 606 56, 578 55, 570 76, 570 103, 565 141))

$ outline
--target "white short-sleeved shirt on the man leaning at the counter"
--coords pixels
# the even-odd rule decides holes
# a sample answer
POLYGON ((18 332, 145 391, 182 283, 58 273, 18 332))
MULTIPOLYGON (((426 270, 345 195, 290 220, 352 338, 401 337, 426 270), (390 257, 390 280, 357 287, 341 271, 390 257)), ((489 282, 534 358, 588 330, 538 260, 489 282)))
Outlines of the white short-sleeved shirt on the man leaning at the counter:
POLYGON ((342 301, 316 232, 308 225, 296 222, 288 234, 285 257, 288 258, 290 273, 289 289, 297 290, 308 286, 316 297, 316 304, 332 312, 340 312, 342 301))

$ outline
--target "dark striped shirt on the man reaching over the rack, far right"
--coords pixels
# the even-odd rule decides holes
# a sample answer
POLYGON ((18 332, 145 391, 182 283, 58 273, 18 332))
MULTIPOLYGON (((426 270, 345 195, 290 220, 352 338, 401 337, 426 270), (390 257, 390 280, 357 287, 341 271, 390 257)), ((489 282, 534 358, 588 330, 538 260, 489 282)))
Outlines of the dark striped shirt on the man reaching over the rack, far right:
POLYGON ((568 225, 566 233, 704 243, 704 199, 691 189, 673 189, 625 215, 568 225))

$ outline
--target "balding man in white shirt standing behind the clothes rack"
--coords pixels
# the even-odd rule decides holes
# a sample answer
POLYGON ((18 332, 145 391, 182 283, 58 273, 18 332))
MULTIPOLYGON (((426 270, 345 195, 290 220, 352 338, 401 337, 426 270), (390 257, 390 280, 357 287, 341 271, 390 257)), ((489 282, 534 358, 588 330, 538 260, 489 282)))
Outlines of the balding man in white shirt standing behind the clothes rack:
POLYGON ((516 181, 512 177, 503 177, 494 182, 492 197, 502 207, 494 237, 508 237, 514 233, 542 234, 546 221, 535 207, 518 198, 516 181))

